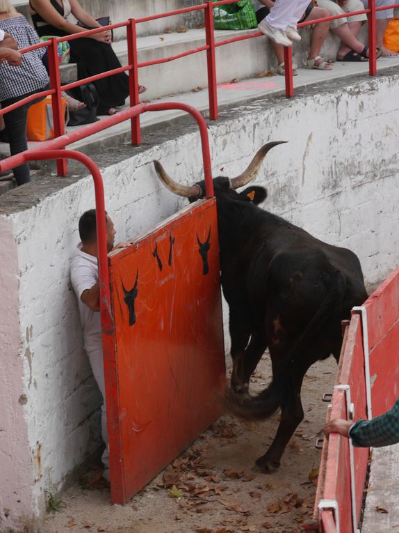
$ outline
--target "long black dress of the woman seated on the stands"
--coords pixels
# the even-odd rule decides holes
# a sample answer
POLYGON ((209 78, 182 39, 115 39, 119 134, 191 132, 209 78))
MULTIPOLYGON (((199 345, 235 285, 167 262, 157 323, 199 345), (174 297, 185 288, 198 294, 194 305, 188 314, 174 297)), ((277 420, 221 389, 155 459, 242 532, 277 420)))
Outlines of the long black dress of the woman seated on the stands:
MULTIPOLYGON (((51 5, 63 17, 64 8, 56 0, 50 1, 51 5)), ((31 8, 34 10, 33 6, 31 8)), ((31 16, 33 26, 35 26, 40 37, 64 37, 67 35, 65 31, 47 24, 38 13, 31 16)), ((90 38, 74 39, 70 40, 69 43, 70 62, 77 65, 78 79, 94 76, 100 72, 106 72, 121 66, 111 45, 90 38)), ((97 114, 104 114, 111 107, 124 105, 124 100, 129 96, 129 77, 124 72, 111 77, 97 79, 96 82, 92 83, 99 94, 97 114)))

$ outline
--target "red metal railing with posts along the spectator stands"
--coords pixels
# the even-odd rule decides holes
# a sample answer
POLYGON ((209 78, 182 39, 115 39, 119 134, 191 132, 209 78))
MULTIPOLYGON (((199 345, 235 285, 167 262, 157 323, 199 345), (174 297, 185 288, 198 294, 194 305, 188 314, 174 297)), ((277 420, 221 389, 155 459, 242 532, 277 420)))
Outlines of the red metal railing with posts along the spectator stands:
MULTIPOLYGON (((51 38, 46 43, 40 43, 38 45, 33 45, 31 47, 21 50, 22 53, 29 52, 30 50, 37 49, 40 47, 48 47, 49 52, 49 75, 50 75, 50 86, 51 88, 48 91, 42 91, 35 95, 31 95, 24 100, 8 106, 4 109, 0 109, 0 116, 23 105, 26 102, 31 102, 38 97, 44 97, 51 95, 51 104, 53 107, 54 115, 54 134, 55 137, 63 135, 65 132, 63 116, 62 116, 62 102, 61 102, 61 93, 70 88, 86 84, 88 82, 94 82, 97 79, 115 75, 119 72, 128 72, 129 74, 129 97, 130 105, 135 106, 139 103, 138 95, 138 69, 146 67, 149 65, 158 65, 161 63, 166 63, 168 61, 174 61, 184 56, 190 54, 196 54, 197 52, 206 52, 206 61, 207 61, 207 72, 208 72, 208 91, 209 91, 209 118, 211 120, 216 120, 218 118, 218 93, 217 93, 217 82, 216 82, 216 60, 215 60, 215 49, 217 47, 228 45, 230 43, 236 43, 240 40, 256 38, 262 36, 262 34, 257 31, 255 33, 247 33, 246 35, 241 35, 234 38, 229 38, 227 40, 215 42, 215 33, 213 25, 213 8, 215 6, 220 6, 222 4, 234 3, 236 0, 220 0, 218 2, 208 1, 206 3, 199 4, 198 6, 192 6, 188 8, 181 8, 178 10, 170 11, 168 13, 159 13, 157 15, 151 15, 149 17, 142 17, 138 19, 131 18, 125 22, 119 22, 117 24, 110 24, 109 26, 103 26, 101 28, 92 29, 88 31, 82 31, 80 33, 74 33, 73 35, 62 37, 62 38, 51 38), (137 48, 137 36, 136 36, 136 24, 140 22, 149 22, 152 20, 157 20, 163 17, 170 17, 173 15, 180 15, 183 13, 190 13, 191 11, 204 10, 204 19, 205 19, 205 36, 206 44, 201 47, 194 49, 186 50, 180 54, 174 56, 169 56, 162 59, 155 59, 153 61, 146 61, 144 63, 138 63, 138 48, 137 48), (63 41, 70 41, 78 38, 88 37, 93 33, 98 33, 106 29, 116 29, 116 28, 127 28, 127 50, 128 50, 128 62, 129 64, 126 67, 116 68, 114 70, 109 70, 107 72, 101 72, 101 74, 90 76, 85 79, 80 79, 79 81, 72 82, 70 84, 61 85, 60 83, 60 72, 58 67, 58 52, 57 45, 63 41)), ((369 8, 361 11, 356 11, 352 13, 345 13, 344 15, 335 15, 332 17, 325 17, 318 20, 312 20, 311 22, 302 22, 298 26, 309 26, 311 24, 316 24, 317 22, 335 20, 343 17, 348 17, 350 15, 366 13, 368 15, 369 23, 369 74, 375 75, 377 72, 376 65, 376 49, 375 49, 375 13, 380 10, 396 8, 399 7, 399 3, 394 3, 391 6, 383 6, 376 8, 375 0, 369 0, 369 8)), ((291 47, 284 48, 284 61, 286 64, 286 96, 291 98, 293 96, 293 69, 292 69, 292 49, 291 47)), ((131 143, 133 145, 138 145, 141 142, 141 132, 140 132, 140 116, 135 114, 131 116, 131 143)), ((66 160, 60 159, 57 161, 57 171, 59 176, 65 176, 67 172, 66 160)))

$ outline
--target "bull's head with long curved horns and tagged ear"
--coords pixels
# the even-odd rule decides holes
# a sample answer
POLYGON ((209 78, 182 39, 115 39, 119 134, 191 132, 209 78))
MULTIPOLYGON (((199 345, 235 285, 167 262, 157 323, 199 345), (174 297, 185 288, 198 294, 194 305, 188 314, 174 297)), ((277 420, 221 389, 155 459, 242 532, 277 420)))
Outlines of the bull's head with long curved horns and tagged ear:
MULTIPOLYGON (((263 145, 262 148, 257 151, 256 155, 248 165, 247 169, 239 176, 236 176, 236 178, 215 178, 213 180, 215 195, 217 196, 218 192, 221 192, 223 190, 225 190, 226 192, 233 191, 239 189, 240 187, 244 187, 244 185, 247 185, 248 183, 251 183, 257 177, 259 167, 261 166, 261 163, 263 162, 263 159, 268 153, 268 151, 273 148, 273 146, 277 146, 277 144, 282 144, 284 142, 286 141, 275 141, 263 145)), ((186 196, 186 198, 188 198, 190 202, 196 201, 206 196, 204 181, 195 183, 195 185, 181 185, 180 183, 176 183, 172 178, 170 178, 170 176, 168 175, 168 173, 166 173, 165 169, 163 169, 163 166, 159 161, 154 161, 154 167, 156 173, 158 174, 158 178, 165 184, 165 187, 167 187, 170 191, 174 192, 174 194, 178 194, 179 196, 186 196)), ((266 198, 266 190, 262 187, 251 187, 250 192, 244 191, 240 194, 240 196, 241 199, 244 199, 246 201, 251 200, 254 201, 254 203, 260 203, 266 198)))

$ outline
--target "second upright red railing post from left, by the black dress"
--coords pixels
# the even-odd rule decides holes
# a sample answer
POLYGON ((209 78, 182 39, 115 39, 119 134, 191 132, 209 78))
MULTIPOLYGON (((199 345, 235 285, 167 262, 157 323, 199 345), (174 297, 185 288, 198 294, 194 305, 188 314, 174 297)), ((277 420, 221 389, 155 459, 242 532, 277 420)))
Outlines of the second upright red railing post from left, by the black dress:
MULTIPOLYGON (((137 33, 136 20, 129 19, 127 25, 127 57, 131 69, 129 70, 129 95, 130 107, 140 103, 138 95, 138 61, 137 61, 137 33)), ((138 146, 141 144, 140 115, 133 116, 131 124, 131 144, 138 146)))

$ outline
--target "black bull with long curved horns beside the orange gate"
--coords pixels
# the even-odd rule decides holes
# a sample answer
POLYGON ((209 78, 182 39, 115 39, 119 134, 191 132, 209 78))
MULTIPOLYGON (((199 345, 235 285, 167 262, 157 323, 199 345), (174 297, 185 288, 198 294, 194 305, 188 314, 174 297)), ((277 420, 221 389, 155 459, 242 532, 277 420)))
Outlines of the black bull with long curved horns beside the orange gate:
MULTIPOLYGON (((263 472, 279 466, 288 441, 304 417, 300 390, 309 367, 341 350, 341 320, 367 298, 361 266, 348 249, 328 245, 256 204, 263 187, 235 189, 252 181, 268 143, 236 178, 213 180, 217 208, 222 289, 229 304, 233 372, 229 402, 236 414, 262 419, 278 408, 282 415, 266 454, 263 472), (250 376, 269 348, 272 381, 259 394, 247 394, 250 376)), ((156 172, 175 194, 203 198, 204 182, 175 183, 159 162, 156 172)))

